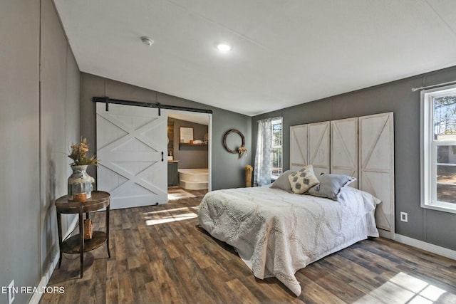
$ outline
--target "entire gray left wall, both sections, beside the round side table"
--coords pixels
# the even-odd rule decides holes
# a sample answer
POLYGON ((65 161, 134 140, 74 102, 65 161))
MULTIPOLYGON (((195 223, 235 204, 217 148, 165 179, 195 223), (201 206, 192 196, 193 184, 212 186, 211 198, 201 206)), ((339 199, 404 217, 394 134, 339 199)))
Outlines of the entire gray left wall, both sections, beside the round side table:
POLYGON ((0 1, 0 36, 0 286, 37 286, 58 249, 53 200, 79 137, 79 70, 51 0, 0 1))

